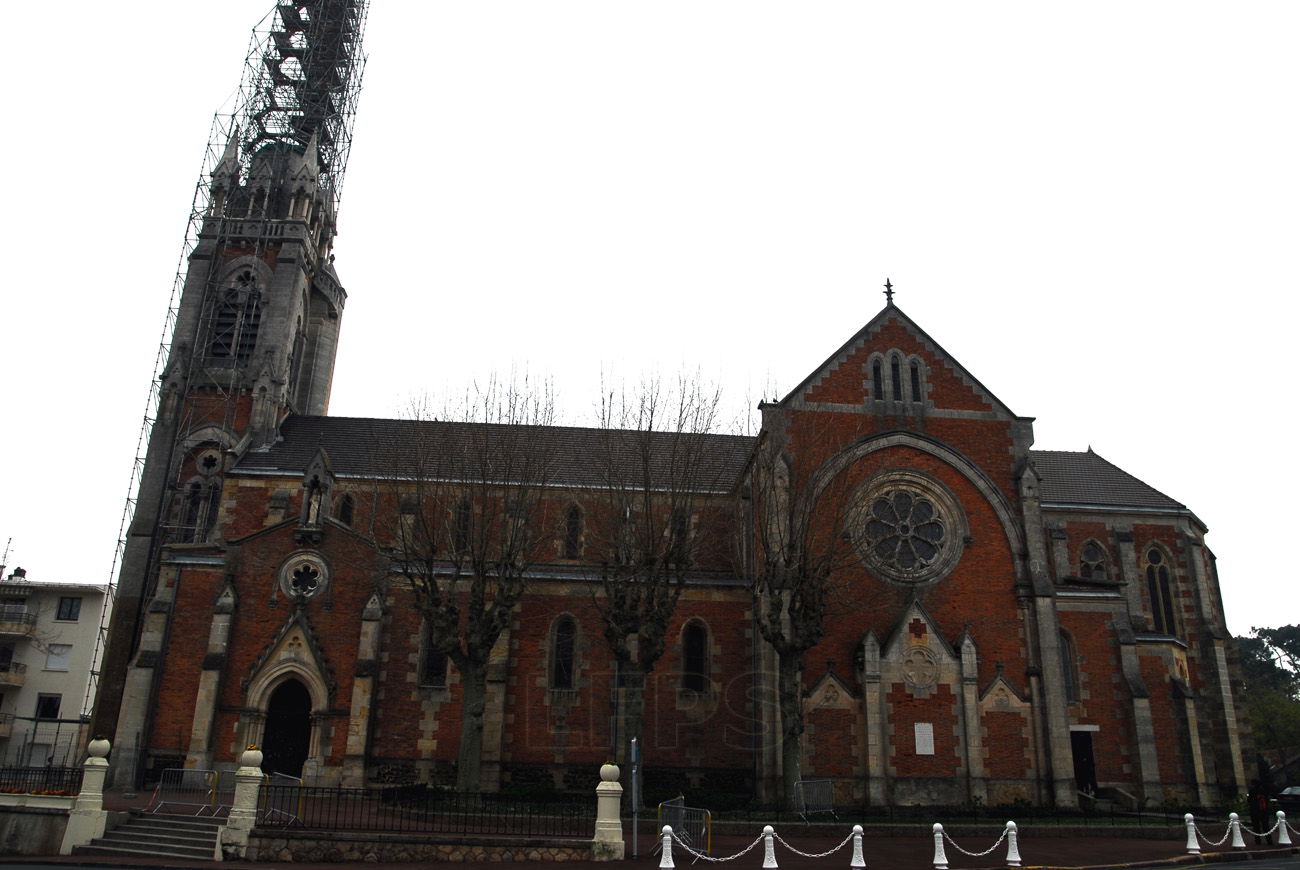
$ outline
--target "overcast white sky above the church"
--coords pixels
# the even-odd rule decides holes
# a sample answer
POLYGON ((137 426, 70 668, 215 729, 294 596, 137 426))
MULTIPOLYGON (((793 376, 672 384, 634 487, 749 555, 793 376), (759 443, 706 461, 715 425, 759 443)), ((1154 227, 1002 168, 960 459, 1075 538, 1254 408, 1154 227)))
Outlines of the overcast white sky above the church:
MULTIPOLYGON (((209 121, 272 5, 6 10, 10 570, 109 579, 209 121)), ((1294 1, 374 0, 330 412, 511 367, 567 423, 602 368, 741 408, 889 277, 1035 446, 1210 527, 1235 633, 1300 622, 1297 33, 1294 1)))

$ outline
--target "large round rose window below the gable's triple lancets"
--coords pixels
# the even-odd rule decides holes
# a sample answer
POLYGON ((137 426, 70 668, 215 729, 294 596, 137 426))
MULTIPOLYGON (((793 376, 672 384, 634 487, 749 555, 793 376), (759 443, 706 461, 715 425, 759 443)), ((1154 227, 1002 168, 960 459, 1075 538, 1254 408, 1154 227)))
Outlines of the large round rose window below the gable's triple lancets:
POLYGON ((961 558, 966 521, 936 480, 907 471, 876 475, 858 490, 849 534, 867 566, 897 583, 930 583, 961 558))

